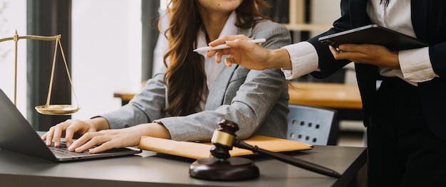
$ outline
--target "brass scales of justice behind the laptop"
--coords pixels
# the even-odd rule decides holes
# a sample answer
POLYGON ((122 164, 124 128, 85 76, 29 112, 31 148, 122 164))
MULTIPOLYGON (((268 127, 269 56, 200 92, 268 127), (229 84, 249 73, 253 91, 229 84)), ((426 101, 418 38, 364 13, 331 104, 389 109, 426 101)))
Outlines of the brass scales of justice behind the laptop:
POLYGON ((76 92, 74 92, 73 82, 71 81, 70 72, 68 70, 68 65, 66 63, 65 54, 63 53, 63 48, 61 44, 61 34, 57 36, 19 36, 16 33, 14 34, 14 37, 10 38, 0 38, 0 43, 3 41, 14 41, 15 42, 15 62, 14 62, 14 105, 16 105, 16 97, 17 97, 17 43, 19 39, 31 39, 31 40, 39 40, 39 41, 56 41, 56 47, 54 48, 54 58, 53 58, 53 65, 51 68, 51 78, 50 78, 50 85, 48 87, 48 96, 46 97, 46 105, 40 105, 36 106, 37 112, 41 114, 47 114, 47 115, 70 115, 73 113, 78 112, 79 107, 78 104, 78 98, 76 97, 76 92), (57 48, 61 48, 61 54, 63 58, 63 63, 65 64, 66 74, 68 76, 68 80, 70 80, 71 90, 73 90, 73 95, 76 99, 76 106, 74 105, 50 105, 51 100, 51 90, 53 89, 53 78, 54 78, 54 68, 56 66, 56 55, 57 55, 57 48))

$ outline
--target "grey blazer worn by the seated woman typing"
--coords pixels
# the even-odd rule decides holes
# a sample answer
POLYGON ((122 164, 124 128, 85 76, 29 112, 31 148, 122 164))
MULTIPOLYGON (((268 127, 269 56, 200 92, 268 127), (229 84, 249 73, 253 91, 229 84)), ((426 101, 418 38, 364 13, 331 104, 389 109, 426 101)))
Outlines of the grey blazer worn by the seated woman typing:
MULTIPOLYGON (((254 28, 239 28, 238 33, 266 38, 262 46, 270 49, 291 43, 288 29, 271 21, 261 21, 254 28)), ((249 70, 232 65, 225 66, 210 87, 203 112, 184 117, 162 112, 168 105, 167 87, 163 75, 157 74, 128 105, 101 116, 107 119, 110 129, 161 122, 177 141, 209 141, 222 119, 239 124, 238 139, 253 134, 286 138, 288 100, 288 82, 281 70, 249 70)))

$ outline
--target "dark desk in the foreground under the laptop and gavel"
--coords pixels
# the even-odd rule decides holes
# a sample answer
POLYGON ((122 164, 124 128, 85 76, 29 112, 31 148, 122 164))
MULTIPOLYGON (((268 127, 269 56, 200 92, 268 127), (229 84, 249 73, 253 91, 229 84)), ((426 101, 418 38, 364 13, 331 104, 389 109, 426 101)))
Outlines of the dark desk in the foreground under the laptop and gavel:
POLYGON ((194 160, 143 151, 135 156, 53 163, 0 149, 0 186, 348 186, 364 166, 364 147, 314 146, 296 158, 342 173, 331 178, 267 157, 251 158, 260 177, 249 181, 204 181, 189 176, 194 160))

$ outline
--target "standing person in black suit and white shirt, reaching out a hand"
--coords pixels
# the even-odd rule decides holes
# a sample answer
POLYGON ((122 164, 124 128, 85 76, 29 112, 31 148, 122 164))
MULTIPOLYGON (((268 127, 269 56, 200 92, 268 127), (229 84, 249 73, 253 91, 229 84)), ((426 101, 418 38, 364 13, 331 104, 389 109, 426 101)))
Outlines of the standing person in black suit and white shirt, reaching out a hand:
POLYGON ((341 0, 341 18, 319 36, 266 50, 246 36, 224 36, 207 56, 264 70, 282 68, 287 79, 311 73, 327 78, 355 63, 368 128, 368 186, 446 186, 446 1, 341 0), (429 43, 391 51, 371 44, 338 48, 318 38, 375 23, 429 43))

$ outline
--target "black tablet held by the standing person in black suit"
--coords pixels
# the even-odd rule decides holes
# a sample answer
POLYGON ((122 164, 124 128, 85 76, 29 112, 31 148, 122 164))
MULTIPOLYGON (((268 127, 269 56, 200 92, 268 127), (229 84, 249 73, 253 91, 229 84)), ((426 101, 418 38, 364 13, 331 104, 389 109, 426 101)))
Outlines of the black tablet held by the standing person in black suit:
POLYGON ((335 47, 338 47, 343 43, 369 43, 385 46, 390 50, 407 50, 428 46, 427 43, 420 41, 417 38, 413 38, 412 36, 408 36, 376 24, 323 36, 318 38, 318 41, 325 43, 328 46, 335 47))

